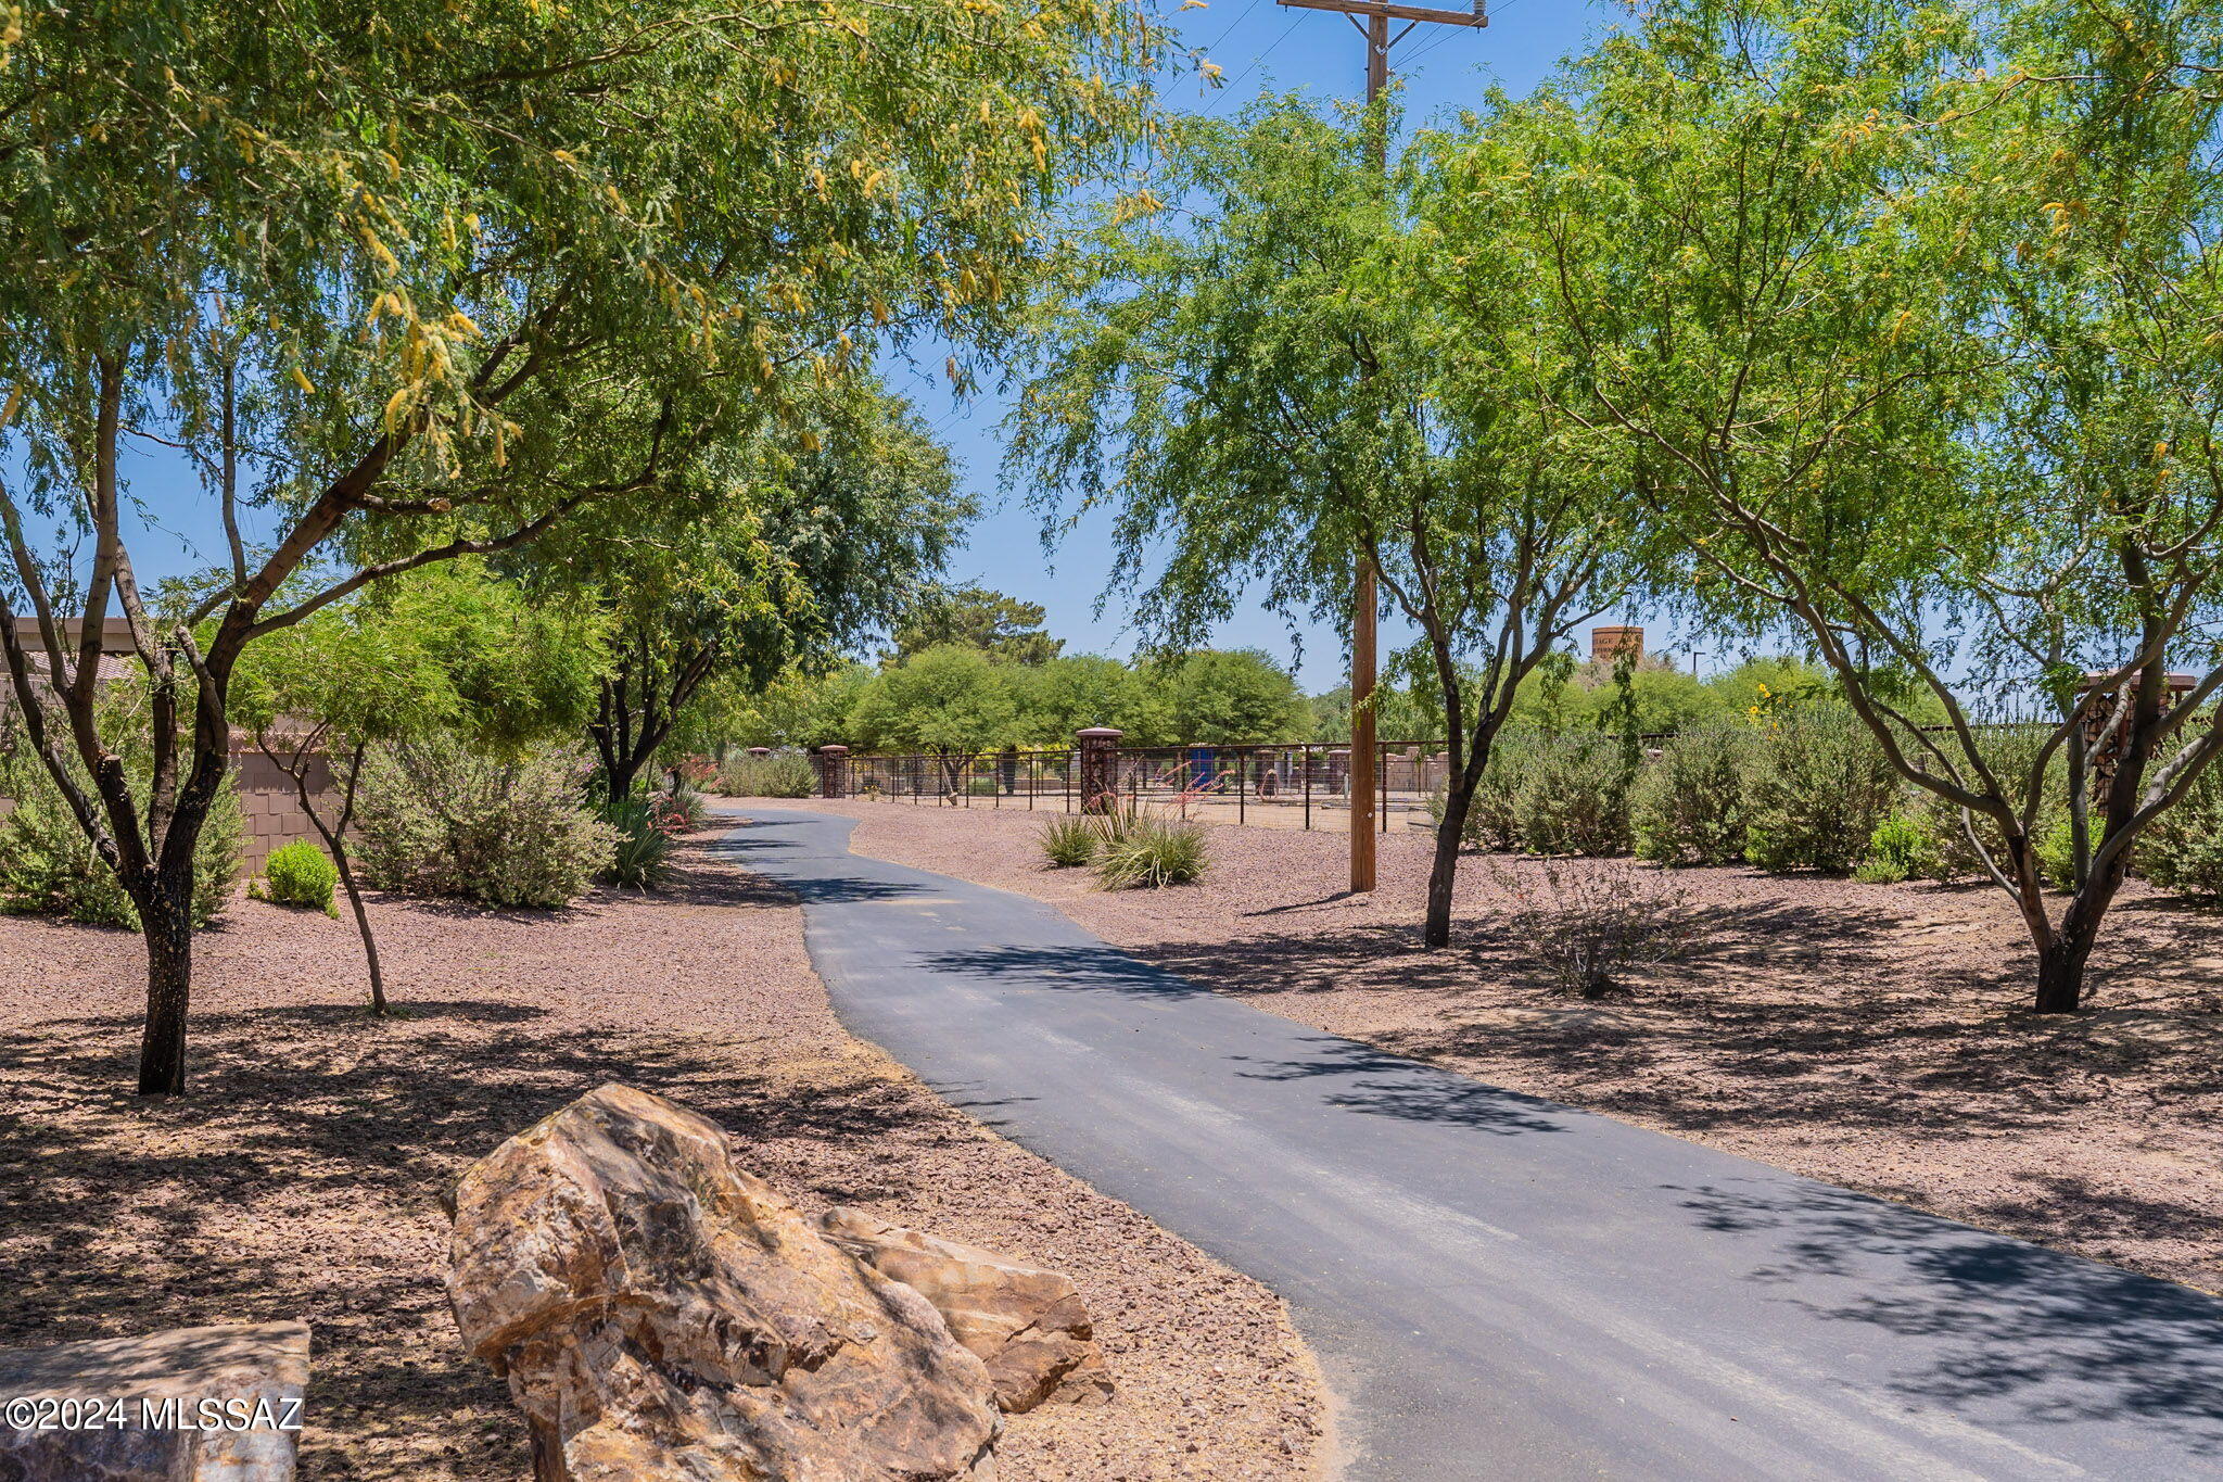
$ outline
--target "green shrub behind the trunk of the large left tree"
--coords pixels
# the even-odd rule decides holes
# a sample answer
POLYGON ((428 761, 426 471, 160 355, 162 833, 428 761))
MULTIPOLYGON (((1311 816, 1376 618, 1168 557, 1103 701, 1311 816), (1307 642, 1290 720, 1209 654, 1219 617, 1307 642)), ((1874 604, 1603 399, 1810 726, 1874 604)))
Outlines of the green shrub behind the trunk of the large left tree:
MULTIPOLYGON (((91 791, 91 780, 82 784, 91 791)), ((122 880, 84 838, 62 791, 29 749, 0 753, 0 798, 16 804, 0 818, 0 911, 138 931, 138 909, 122 880)), ((231 902, 242 831, 238 793, 227 780, 193 849, 196 927, 213 922, 231 902)))

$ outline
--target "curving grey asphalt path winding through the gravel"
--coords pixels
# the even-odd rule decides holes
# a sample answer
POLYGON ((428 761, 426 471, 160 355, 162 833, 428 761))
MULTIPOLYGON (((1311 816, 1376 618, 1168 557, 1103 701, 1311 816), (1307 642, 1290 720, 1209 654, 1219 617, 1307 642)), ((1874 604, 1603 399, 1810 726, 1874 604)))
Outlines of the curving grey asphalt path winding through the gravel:
POLYGON ((1060 911, 729 840, 843 1020, 1287 1298, 1347 1478, 2223 1478, 2223 1302, 1465 1080, 1060 911))

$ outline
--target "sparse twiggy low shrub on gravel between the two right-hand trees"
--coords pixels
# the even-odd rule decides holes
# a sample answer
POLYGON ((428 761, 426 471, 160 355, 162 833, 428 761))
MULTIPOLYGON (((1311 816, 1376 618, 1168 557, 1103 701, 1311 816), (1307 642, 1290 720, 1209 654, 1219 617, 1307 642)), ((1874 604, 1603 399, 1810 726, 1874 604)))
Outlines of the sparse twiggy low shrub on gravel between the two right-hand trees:
POLYGON ((1601 998, 1643 967, 1689 951, 1694 922, 1683 889, 1627 860, 1545 860, 1496 869, 1507 933, 1583 998, 1601 998))

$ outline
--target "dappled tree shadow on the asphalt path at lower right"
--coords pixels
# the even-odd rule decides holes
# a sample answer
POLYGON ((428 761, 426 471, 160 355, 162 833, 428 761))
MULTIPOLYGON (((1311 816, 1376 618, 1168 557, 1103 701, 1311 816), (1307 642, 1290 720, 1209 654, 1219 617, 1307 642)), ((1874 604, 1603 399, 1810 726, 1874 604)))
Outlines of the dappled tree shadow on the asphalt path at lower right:
POLYGON ((1894 1380, 1910 1404, 1976 1422, 2134 1422, 2223 1458, 2219 1298, 1845 1189, 1678 1193, 1701 1229, 1765 1246, 1750 1280, 1783 1286, 1785 1302, 1945 1340, 1943 1358, 1894 1380), (1847 1280, 1841 1302, 1834 1278, 1847 1280))

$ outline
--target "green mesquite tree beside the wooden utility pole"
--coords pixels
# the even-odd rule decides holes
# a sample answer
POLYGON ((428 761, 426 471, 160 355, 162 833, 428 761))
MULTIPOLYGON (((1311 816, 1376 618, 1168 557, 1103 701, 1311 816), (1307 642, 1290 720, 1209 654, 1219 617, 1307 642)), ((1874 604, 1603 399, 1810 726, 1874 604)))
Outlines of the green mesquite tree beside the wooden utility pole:
POLYGON ((1374 562, 1420 633, 1400 664, 1434 689, 1449 749, 1425 924, 1443 947, 1514 691, 1627 595, 1636 542, 1616 471, 1545 395, 1569 367, 1507 231, 1416 220, 1434 162, 1414 151, 1385 180, 1385 127, 1278 100, 1183 138, 1183 211, 1116 222, 1056 304, 1009 475, 1116 511, 1120 580, 1176 649, 1254 582, 1347 633, 1352 571, 1374 562), (1452 258, 1472 276, 1436 293, 1452 258))

